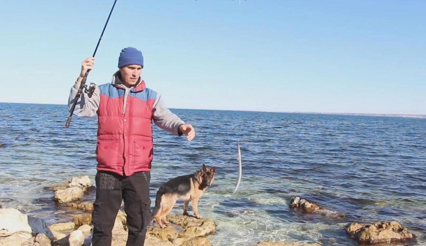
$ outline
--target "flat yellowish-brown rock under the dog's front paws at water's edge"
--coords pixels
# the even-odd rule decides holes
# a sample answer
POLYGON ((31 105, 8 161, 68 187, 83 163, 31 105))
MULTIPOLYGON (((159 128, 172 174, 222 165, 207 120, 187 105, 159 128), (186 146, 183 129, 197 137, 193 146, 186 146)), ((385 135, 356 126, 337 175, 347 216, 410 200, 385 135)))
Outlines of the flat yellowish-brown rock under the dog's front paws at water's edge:
POLYGON ((216 232, 216 224, 210 219, 197 219, 195 217, 185 215, 167 215, 167 220, 184 228, 181 237, 199 237, 216 232))

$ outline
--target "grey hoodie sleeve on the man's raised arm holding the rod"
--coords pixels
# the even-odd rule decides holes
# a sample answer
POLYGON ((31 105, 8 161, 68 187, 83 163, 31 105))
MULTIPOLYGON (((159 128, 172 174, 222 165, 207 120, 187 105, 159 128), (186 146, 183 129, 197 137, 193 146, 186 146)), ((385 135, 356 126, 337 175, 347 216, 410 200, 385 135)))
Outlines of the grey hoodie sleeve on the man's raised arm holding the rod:
MULTIPOLYGON (((75 82, 74 86, 72 86, 71 91, 69 92, 68 98, 68 111, 71 112, 72 105, 75 101, 75 95, 80 88, 80 83, 75 82)), ((99 86, 95 86, 95 92, 93 92, 92 97, 89 97, 87 93, 83 91, 80 98, 75 105, 75 109, 73 114, 76 116, 84 116, 91 117, 97 114, 99 108, 100 98, 100 89, 99 86)))

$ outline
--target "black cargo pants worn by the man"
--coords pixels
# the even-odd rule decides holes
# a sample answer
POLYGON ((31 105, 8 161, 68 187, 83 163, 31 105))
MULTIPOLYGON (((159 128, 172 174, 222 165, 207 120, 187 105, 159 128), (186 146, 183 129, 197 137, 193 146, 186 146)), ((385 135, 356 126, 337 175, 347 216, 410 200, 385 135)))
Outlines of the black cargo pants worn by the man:
POLYGON ((124 200, 129 235, 126 246, 143 246, 150 223, 150 172, 121 176, 98 172, 96 200, 92 213, 92 246, 110 246, 115 217, 124 200))

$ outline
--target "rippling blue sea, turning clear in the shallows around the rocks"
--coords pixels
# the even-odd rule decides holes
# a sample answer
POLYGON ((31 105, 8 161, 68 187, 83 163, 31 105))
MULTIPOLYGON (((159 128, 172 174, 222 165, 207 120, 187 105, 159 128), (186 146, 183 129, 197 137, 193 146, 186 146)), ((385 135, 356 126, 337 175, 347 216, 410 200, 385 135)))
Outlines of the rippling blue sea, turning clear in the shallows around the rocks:
MULTIPOLYGON (((426 245, 426 120, 396 117, 172 110, 196 127, 188 143, 154 126, 151 199, 164 181, 204 163, 216 180, 199 202, 217 224, 213 245, 260 240, 357 245, 351 221, 397 220, 426 245), (236 185, 237 140, 243 179, 236 185), (303 215, 288 209, 305 197, 346 214, 303 215)), ((0 103, 0 204, 43 217, 69 220, 43 189, 71 177, 94 179, 97 118, 73 117, 63 105, 0 103)), ((91 192, 85 200, 93 200, 91 192)), ((178 202, 173 212, 181 213, 178 202)))

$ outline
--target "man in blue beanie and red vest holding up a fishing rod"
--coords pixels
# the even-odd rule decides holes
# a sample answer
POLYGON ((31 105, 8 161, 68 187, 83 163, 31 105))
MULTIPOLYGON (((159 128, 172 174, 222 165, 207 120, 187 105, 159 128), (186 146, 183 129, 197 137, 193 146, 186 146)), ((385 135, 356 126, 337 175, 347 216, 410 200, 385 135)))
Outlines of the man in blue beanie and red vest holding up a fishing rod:
MULTIPOLYGON (((94 61, 94 57, 83 60, 80 77, 69 95, 68 110, 94 61)), ((112 82, 96 86, 90 98, 83 93, 73 112, 87 117, 98 114, 93 246, 111 245, 111 231, 122 200, 129 228, 126 245, 144 245, 150 223, 152 120, 166 131, 187 135, 188 141, 195 137, 193 126, 170 112, 161 96, 145 87, 140 77, 143 67, 141 51, 132 47, 123 49, 118 59, 119 71, 112 76, 112 82)))

